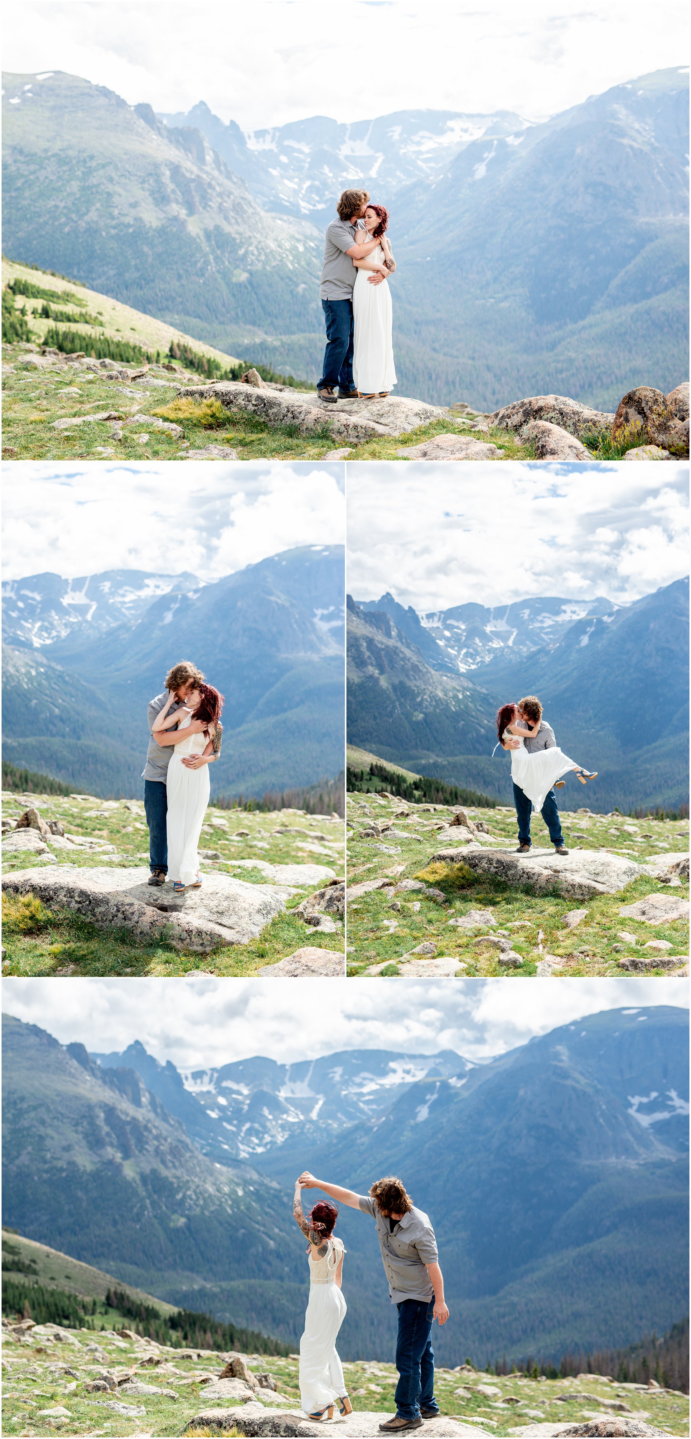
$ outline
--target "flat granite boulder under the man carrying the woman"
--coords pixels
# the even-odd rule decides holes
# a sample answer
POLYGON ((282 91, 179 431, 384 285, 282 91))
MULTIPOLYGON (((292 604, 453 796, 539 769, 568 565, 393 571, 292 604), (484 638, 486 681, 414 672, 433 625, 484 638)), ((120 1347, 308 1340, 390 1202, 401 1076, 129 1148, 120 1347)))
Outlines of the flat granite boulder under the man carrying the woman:
POLYGON ((527 885, 537 892, 557 889, 569 899, 590 899, 592 895, 613 895, 632 879, 645 873, 642 865, 603 850, 579 850, 556 855, 553 849, 538 849, 528 855, 507 853, 505 849, 439 849, 430 863, 468 865, 475 873, 494 875, 510 885, 527 885))

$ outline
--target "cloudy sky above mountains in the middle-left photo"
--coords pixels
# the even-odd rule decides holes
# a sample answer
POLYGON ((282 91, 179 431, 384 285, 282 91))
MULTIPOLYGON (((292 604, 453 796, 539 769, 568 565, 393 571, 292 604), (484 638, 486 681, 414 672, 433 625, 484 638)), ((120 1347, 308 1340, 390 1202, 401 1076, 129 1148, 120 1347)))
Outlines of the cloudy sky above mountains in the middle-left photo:
MULTIPOLYGON (((16 471, 16 466, 13 466, 16 471)), ((150 570, 204 580, 343 544, 343 465, 22 465, 4 486, 6 580, 150 570)))

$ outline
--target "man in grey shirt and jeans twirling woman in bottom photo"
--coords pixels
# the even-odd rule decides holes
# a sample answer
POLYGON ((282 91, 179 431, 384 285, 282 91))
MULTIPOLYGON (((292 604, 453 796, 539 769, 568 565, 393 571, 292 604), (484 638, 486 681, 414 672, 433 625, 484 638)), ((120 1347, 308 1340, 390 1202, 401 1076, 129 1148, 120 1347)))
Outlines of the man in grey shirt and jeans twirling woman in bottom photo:
POLYGON ((435 1318, 439 1324, 449 1318, 435 1230, 422 1209, 415 1207, 400 1179, 379 1179, 369 1194, 327 1184, 308 1170, 299 1176, 299 1183, 305 1189, 322 1189, 338 1204, 360 1209, 377 1226, 389 1294, 399 1311, 396 1416, 379 1427, 384 1433, 419 1429, 425 1419, 439 1415, 432 1324, 435 1318))

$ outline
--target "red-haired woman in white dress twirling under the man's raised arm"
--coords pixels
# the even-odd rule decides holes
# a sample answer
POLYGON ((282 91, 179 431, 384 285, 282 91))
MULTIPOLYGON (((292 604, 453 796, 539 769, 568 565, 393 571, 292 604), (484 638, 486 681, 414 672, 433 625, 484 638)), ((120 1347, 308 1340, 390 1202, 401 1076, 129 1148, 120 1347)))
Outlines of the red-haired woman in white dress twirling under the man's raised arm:
POLYGON ((315 1204, 310 1217, 302 1213, 302 1186, 295 1180, 292 1213, 305 1239, 310 1263, 310 1299, 305 1333, 299 1341, 299 1402, 310 1419, 333 1419, 334 1404, 341 1415, 351 1415, 343 1367, 335 1350, 338 1330, 346 1318, 341 1294, 343 1239, 333 1239, 338 1210, 325 1200, 315 1204))

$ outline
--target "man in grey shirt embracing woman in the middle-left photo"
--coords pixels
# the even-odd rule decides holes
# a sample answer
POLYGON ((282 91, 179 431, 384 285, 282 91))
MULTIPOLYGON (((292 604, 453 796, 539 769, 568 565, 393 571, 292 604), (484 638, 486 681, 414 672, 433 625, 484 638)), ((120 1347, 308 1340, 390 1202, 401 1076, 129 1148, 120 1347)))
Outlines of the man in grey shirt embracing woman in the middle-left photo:
POLYGON ((173 669, 166 675, 166 689, 161 695, 155 695, 155 699, 148 701, 147 707, 147 721, 148 721, 148 750, 147 763, 144 766, 144 810, 148 825, 148 866, 151 873, 148 876, 150 885, 164 885, 166 875, 168 872, 168 835, 167 835, 167 814, 168 814, 168 794, 166 789, 166 780, 168 773, 170 755, 173 754, 173 745, 180 744, 180 740, 189 738, 190 732, 202 730, 200 721, 193 720, 191 725, 186 730, 167 730, 161 734, 164 744, 158 744, 151 734, 151 728, 157 714, 161 712, 168 694, 176 695, 176 702, 170 707, 170 714, 180 709, 187 699, 187 695, 194 689, 196 685, 202 684, 204 679, 200 669, 196 665, 190 665, 187 659, 180 661, 179 665, 173 665, 173 669))

